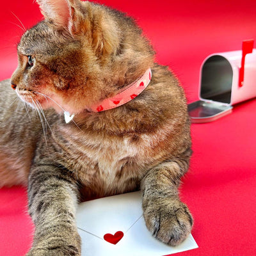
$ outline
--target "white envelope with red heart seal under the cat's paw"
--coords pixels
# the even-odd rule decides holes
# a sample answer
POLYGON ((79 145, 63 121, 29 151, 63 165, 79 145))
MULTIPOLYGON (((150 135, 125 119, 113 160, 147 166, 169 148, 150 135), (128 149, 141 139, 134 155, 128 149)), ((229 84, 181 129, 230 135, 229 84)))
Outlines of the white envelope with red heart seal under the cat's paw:
POLYGON ((152 237, 143 218, 140 191, 84 202, 76 215, 83 256, 162 256, 198 248, 191 234, 175 247, 152 237), (116 232, 124 234, 116 235, 122 237, 118 243, 106 241, 116 240, 108 238, 116 232))

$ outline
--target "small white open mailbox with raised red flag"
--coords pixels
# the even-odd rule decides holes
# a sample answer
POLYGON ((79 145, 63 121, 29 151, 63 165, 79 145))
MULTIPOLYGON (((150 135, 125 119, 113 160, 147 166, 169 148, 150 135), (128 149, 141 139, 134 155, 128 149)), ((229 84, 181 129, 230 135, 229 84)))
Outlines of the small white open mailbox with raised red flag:
POLYGON ((189 104, 191 122, 214 121, 232 112, 234 104, 256 97, 256 49, 211 54, 200 69, 200 100, 189 104))

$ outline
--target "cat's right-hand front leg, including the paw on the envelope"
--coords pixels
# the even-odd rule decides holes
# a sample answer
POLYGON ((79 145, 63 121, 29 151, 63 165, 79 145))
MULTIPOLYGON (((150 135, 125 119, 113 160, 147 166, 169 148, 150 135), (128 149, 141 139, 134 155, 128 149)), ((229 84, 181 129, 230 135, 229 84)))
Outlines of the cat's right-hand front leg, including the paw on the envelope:
POLYGON ((188 161, 166 161, 150 170, 141 182, 143 214, 148 230, 164 243, 175 246, 188 237, 193 218, 180 202, 180 177, 188 169, 188 161))

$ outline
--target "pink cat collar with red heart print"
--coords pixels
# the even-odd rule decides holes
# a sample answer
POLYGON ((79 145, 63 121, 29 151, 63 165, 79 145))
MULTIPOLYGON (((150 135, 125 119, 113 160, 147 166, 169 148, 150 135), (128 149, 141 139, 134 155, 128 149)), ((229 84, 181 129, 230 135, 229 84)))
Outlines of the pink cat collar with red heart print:
POLYGON ((104 99, 102 102, 91 106, 90 111, 101 112, 124 105, 125 103, 137 97, 141 92, 143 92, 143 90, 145 90, 145 88, 147 88, 151 77, 151 68, 148 68, 143 76, 139 77, 136 81, 126 86, 114 97, 104 99))

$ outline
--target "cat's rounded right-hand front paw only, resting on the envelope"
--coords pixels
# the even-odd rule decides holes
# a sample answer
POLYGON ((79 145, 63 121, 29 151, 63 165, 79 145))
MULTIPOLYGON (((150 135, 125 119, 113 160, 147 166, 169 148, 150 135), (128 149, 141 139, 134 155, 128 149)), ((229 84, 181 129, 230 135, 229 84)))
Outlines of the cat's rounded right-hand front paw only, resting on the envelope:
POLYGON ((143 210, 148 230, 163 243, 176 246, 191 232, 193 218, 180 201, 158 198, 143 205, 143 210))

